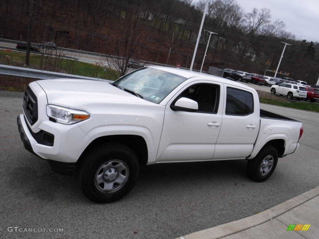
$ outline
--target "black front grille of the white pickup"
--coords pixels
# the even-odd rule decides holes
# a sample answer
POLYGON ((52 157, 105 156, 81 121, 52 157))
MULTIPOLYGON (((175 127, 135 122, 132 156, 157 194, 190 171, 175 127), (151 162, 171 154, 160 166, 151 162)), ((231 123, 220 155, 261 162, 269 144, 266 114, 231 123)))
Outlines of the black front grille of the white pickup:
POLYGON ((33 125, 38 120, 38 99, 29 87, 24 93, 23 110, 26 119, 33 125))

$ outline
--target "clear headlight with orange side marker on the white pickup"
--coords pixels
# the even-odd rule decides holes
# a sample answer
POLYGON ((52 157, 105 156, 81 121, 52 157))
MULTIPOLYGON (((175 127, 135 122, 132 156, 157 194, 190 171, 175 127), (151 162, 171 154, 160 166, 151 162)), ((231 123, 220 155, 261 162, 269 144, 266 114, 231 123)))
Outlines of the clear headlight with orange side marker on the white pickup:
POLYGON ((85 111, 73 110, 57 105, 47 105, 47 115, 64 125, 75 124, 90 117, 90 114, 85 111))

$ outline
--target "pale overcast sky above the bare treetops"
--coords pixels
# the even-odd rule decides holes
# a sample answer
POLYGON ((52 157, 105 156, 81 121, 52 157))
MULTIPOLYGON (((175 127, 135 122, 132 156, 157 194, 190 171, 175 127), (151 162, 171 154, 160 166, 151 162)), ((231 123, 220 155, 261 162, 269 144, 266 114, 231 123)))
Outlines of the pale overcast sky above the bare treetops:
POLYGON ((237 0, 245 10, 268 8, 272 21, 279 19, 286 24, 286 32, 296 40, 319 42, 319 0, 237 0))

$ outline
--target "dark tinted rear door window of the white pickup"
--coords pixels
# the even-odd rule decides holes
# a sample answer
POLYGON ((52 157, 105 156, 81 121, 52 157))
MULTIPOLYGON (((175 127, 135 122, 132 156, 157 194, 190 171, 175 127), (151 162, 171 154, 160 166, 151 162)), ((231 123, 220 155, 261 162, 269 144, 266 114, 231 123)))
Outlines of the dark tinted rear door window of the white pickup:
POLYGON ((254 100, 250 92, 227 87, 226 115, 245 116, 253 112, 254 100))

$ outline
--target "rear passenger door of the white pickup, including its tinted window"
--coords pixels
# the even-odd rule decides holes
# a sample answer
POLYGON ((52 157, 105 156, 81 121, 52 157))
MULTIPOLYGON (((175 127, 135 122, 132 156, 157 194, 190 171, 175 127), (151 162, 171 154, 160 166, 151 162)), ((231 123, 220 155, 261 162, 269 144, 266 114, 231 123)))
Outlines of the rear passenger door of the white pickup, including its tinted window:
POLYGON ((253 150, 259 131, 259 108, 255 91, 226 85, 223 124, 213 159, 246 158, 253 150))

